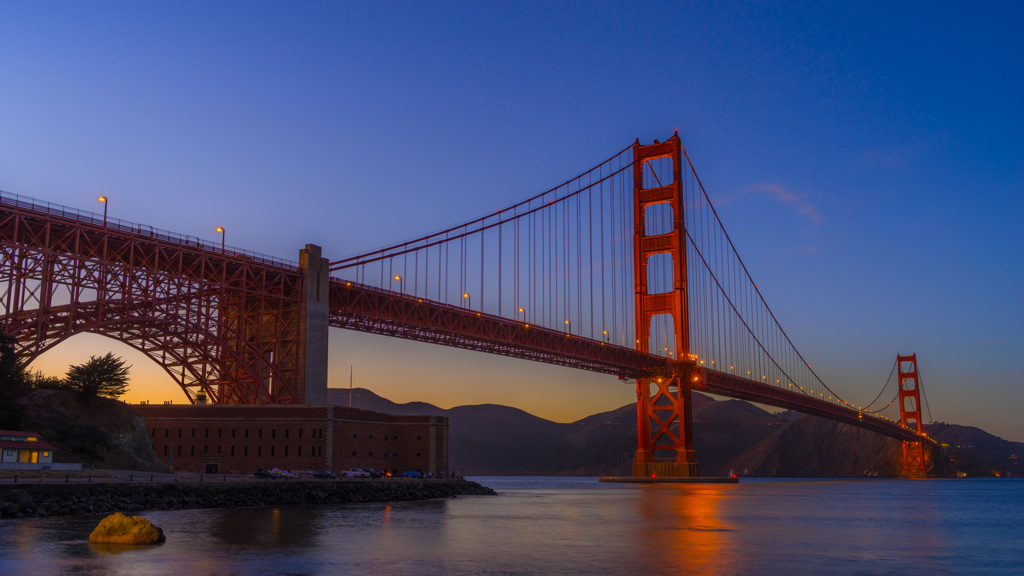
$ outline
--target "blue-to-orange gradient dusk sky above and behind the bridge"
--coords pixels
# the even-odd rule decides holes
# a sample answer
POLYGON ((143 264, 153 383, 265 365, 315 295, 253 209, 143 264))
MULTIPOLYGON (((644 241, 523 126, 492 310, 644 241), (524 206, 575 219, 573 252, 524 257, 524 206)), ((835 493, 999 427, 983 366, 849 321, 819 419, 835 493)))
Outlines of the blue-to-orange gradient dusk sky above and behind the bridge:
MULTIPOLYGON (((934 419, 1024 441, 1024 4, 676 4, 5 2, 0 189, 337 259, 678 128, 829 386, 866 403, 916 353, 934 419)), ((34 366, 111 349, 133 365, 128 400, 185 401, 100 336, 34 366)), ((353 365, 397 402, 572 421, 635 398, 337 329, 331 354, 331 386, 353 365)))

